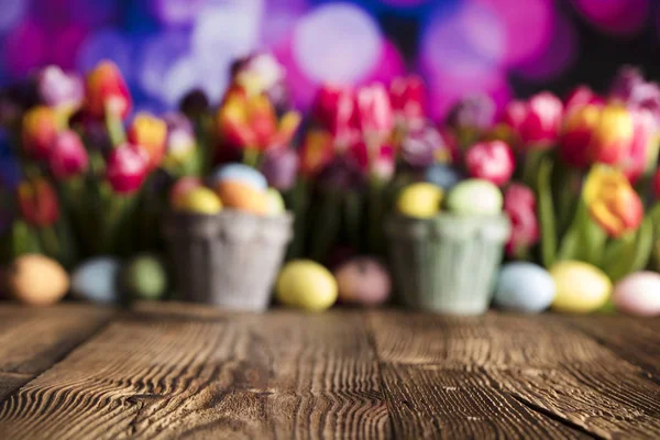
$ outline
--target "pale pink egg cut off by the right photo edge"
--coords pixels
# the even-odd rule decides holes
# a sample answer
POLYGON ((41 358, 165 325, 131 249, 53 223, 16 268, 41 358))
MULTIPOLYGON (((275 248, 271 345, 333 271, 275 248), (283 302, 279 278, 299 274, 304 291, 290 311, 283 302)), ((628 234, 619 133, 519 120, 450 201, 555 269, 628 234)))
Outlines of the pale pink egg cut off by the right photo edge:
POLYGON ((638 272, 628 275, 616 284, 612 299, 617 310, 625 314, 660 315, 660 274, 638 272))

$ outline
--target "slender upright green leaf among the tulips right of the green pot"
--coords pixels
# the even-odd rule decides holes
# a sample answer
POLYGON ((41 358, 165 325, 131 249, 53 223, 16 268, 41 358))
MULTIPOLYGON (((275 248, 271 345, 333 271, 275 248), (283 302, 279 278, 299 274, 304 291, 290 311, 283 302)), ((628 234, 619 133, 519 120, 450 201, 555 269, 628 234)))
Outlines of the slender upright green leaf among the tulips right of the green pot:
POLYGON ((554 226, 554 207, 550 177, 552 175, 552 161, 544 158, 538 173, 538 213, 541 229, 541 257, 546 267, 554 264, 557 256, 557 229, 554 226))

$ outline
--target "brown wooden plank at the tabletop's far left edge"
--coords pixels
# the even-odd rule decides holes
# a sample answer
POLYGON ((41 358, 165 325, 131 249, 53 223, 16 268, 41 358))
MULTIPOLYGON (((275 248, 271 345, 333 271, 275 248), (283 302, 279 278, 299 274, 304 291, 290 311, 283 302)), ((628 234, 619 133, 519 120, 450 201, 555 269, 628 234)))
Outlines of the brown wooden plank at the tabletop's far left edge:
POLYGON ((66 304, 0 307, 0 400, 47 370, 103 326, 114 310, 66 304))

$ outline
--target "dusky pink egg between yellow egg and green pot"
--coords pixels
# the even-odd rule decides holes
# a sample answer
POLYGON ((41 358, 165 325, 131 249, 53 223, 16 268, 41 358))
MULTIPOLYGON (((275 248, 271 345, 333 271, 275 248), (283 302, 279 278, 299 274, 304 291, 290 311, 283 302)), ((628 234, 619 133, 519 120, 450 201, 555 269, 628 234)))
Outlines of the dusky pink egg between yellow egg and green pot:
POLYGON ((339 300, 345 304, 377 306, 389 297, 392 278, 377 260, 358 256, 334 270, 339 300))

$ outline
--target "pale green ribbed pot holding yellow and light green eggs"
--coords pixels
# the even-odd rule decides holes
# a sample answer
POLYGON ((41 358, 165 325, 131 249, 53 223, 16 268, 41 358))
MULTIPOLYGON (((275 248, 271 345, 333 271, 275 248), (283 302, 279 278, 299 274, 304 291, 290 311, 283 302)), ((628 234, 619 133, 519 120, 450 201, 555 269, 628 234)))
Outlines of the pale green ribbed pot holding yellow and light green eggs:
POLYGON ((385 228, 404 305, 451 315, 481 315, 488 309, 510 231, 506 216, 397 216, 385 228))

